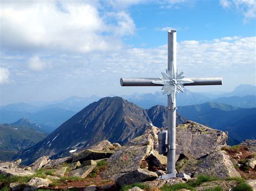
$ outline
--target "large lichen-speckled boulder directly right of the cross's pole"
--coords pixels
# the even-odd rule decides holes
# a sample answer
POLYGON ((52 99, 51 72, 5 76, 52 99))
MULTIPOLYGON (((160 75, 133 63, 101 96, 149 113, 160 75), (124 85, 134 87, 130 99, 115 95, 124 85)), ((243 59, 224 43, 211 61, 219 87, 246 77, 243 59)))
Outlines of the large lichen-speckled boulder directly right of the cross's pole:
POLYGON ((189 159, 198 159, 217 150, 221 145, 226 145, 227 142, 225 132, 192 121, 178 125, 176 136, 176 159, 180 154, 189 159))

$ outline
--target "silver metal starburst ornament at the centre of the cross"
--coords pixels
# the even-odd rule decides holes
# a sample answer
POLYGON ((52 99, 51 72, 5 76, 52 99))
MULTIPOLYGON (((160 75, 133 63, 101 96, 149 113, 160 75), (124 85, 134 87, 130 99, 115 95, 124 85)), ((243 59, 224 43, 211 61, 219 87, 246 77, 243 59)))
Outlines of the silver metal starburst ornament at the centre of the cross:
POLYGON ((154 80, 152 83, 154 84, 161 84, 163 85, 162 90, 163 94, 171 95, 171 101, 174 102, 174 99, 176 97, 176 93, 178 94, 179 91, 184 92, 183 84, 185 83, 193 83, 190 79, 184 79, 185 75, 183 75, 183 72, 179 73, 179 70, 174 71, 173 63, 171 71, 166 69, 166 73, 161 73, 163 77, 159 77, 159 80, 154 80))

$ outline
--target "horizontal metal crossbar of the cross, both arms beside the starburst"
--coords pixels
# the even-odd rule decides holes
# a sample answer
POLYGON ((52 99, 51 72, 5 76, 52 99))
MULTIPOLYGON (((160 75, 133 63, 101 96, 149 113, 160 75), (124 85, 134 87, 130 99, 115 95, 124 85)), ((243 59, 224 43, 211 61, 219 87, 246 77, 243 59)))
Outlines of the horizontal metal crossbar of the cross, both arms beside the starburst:
MULTIPOLYGON (((184 86, 207 86, 207 85, 222 85, 222 77, 187 77, 193 83, 186 83, 184 86)), ((163 86, 161 84, 152 83, 158 78, 121 78, 121 86, 163 86)), ((185 78, 184 78, 185 80, 185 78)))

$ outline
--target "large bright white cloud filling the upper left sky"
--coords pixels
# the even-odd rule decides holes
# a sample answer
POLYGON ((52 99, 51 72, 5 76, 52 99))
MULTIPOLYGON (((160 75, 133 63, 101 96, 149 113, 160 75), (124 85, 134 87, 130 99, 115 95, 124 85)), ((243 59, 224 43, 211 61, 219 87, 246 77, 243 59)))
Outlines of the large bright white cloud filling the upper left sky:
POLYGON ((1 48, 11 51, 107 51, 119 48, 121 36, 134 32, 135 24, 124 11, 100 14, 97 6, 89 2, 56 2, 2 2, 1 48))

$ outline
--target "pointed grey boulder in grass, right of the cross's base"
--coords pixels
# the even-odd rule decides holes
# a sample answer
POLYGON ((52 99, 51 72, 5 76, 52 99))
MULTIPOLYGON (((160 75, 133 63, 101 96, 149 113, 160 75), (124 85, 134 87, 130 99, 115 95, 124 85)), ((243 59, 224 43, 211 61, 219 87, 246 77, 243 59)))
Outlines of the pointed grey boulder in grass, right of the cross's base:
POLYGON ((241 177, 235 170, 230 157, 221 151, 209 154, 201 163, 195 174, 207 174, 220 179, 241 177))

